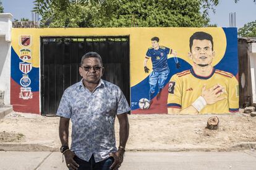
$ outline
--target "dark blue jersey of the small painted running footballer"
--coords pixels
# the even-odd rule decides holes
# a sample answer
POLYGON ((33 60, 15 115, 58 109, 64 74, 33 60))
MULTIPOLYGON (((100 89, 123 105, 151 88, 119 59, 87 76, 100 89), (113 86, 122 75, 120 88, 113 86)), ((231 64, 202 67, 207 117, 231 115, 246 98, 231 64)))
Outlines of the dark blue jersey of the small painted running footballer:
POLYGON ((168 70, 167 56, 170 54, 170 49, 168 47, 159 46, 158 50, 149 48, 146 54, 146 57, 151 58, 153 65, 153 70, 163 71, 168 70))

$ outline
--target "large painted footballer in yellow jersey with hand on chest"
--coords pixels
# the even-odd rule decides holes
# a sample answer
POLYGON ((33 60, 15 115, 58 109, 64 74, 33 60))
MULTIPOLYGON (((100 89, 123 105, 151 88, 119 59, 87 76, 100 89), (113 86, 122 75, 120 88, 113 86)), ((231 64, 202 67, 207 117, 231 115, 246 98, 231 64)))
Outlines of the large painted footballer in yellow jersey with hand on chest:
POLYGON ((190 37, 190 70, 169 82, 168 113, 229 113, 238 111, 239 89, 232 73, 216 70, 213 38, 205 32, 190 37))

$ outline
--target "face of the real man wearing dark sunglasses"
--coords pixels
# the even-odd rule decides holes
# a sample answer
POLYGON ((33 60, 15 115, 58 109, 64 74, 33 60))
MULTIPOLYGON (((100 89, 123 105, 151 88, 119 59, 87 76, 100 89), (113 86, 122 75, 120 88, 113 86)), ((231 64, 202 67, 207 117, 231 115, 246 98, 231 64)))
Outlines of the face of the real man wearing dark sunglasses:
POLYGON ((83 81, 96 84, 103 75, 104 68, 100 63, 100 59, 90 57, 83 60, 83 64, 79 67, 79 73, 83 77, 83 81))

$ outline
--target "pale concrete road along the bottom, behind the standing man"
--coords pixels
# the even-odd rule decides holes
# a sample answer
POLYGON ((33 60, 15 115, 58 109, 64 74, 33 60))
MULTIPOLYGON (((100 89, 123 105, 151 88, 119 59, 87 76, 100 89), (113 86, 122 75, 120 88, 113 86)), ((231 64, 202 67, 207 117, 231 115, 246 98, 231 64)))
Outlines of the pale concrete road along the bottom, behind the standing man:
MULTIPOLYGON (((0 152, 1 170, 67 169, 59 152, 0 152)), ((127 152, 120 170, 256 169, 256 151, 127 152)))

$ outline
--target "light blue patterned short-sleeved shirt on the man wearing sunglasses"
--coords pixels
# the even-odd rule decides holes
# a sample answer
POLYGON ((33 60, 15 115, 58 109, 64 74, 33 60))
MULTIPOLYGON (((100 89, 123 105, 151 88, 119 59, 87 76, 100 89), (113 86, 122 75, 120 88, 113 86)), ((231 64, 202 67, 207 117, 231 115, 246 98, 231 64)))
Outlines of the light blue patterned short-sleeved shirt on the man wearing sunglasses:
POLYGON ((80 81, 66 89, 56 115, 72 121, 70 149, 75 155, 89 161, 93 154, 99 162, 117 151, 114 121, 116 115, 127 111, 129 104, 118 86, 100 80, 90 92, 80 81))

